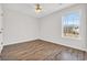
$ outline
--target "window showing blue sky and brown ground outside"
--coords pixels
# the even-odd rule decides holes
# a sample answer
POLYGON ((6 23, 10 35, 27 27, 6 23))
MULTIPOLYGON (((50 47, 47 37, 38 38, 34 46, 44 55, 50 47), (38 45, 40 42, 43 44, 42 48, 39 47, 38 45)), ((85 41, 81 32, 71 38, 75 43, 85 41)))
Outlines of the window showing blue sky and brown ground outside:
POLYGON ((80 36, 79 33, 80 15, 79 12, 72 12, 62 17, 62 36, 75 37, 80 36))

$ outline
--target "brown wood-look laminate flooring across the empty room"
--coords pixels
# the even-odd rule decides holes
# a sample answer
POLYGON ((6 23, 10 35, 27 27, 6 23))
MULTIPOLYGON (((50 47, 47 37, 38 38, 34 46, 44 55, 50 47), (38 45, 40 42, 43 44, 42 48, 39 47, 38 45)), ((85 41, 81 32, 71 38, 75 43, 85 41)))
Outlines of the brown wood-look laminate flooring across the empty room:
POLYGON ((35 40, 7 45, 1 53, 2 61, 86 61, 84 51, 51 42, 35 40))

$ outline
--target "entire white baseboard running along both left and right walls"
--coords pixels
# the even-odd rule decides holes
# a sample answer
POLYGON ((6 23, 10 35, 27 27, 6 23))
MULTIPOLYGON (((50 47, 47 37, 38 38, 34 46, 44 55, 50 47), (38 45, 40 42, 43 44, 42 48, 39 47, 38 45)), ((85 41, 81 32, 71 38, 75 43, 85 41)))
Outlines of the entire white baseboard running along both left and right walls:
POLYGON ((63 43, 59 43, 59 42, 54 42, 54 41, 47 40, 47 39, 46 40, 45 39, 30 39, 30 40, 23 40, 23 41, 8 43, 8 44, 4 44, 4 45, 18 44, 18 43, 23 43, 23 42, 29 42, 29 41, 35 41, 35 40, 47 41, 47 42, 52 42, 52 43, 55 43, 55 44, 59 44, 59 45, 64 45, 64 46, 68 46, 68 47, 73 47, 73 48, 76 48, 76 50, 80 50, 80 51, 86 51, 87 52, 87 48, 79 47, 79 46, 72 46, 72 45, 68 45, 68 44, 63 44, 63 43))

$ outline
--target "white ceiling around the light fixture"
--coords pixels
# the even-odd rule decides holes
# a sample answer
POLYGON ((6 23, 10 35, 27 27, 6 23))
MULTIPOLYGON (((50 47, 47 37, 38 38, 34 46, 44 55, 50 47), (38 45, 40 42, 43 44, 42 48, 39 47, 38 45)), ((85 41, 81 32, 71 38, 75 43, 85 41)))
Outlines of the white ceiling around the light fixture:
POLYGON ((41 13, 35 13, 34 3, 7 3, 3 6, 6 9, 12 9, 25 14, 30 14, 35 18, 41 18, 61 9, 64 9, 66 7, 73 6, 73 3, 41 3, 43 9, 41 13))

